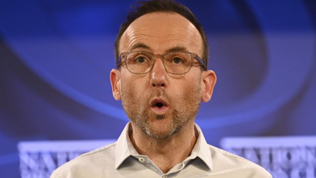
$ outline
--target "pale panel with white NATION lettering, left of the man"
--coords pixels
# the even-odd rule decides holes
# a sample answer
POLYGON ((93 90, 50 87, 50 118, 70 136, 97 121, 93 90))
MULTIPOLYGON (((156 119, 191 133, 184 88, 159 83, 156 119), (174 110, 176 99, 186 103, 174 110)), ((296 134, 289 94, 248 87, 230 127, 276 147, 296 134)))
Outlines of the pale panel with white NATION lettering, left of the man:
POLYGON ((116 140, 19 142, 21 178, 49 178, 58 166, 112 142, 116 140))

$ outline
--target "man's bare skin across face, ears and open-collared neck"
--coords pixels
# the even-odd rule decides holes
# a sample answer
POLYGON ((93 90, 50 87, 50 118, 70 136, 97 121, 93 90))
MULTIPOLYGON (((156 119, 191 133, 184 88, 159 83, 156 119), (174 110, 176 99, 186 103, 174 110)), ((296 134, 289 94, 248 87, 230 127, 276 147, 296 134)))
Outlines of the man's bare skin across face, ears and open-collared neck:
MULTIPOLYGON (((194 25, 176 13, 156 12, 136 19, 123 33, 120 53, 166 53, 178 48, 202 56, 202 38, 194 25)), ((145 74, 129 72, 122 63, 110 73, 113 97, 122 100, 131 120, 130 139, 140 154, 147 155, 164 173, 191 153, 198 137, 194 118, 200 102, 208 102, 216 83, 214 71, 202 71, 197 61, 182 75, 168 73, 161 58, 145 74), (163 100, 163 112, 151 102, 163 100)))

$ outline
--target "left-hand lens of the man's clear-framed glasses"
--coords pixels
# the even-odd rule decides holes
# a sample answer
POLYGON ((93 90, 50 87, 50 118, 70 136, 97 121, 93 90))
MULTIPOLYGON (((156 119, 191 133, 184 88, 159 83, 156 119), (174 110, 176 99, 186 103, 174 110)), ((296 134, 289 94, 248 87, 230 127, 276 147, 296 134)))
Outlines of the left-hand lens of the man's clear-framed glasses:
POLYGON ((152 67, 153 56, 150 53, 135 52, 126 56, 127 69, 134 73, 146 73, 152 67))

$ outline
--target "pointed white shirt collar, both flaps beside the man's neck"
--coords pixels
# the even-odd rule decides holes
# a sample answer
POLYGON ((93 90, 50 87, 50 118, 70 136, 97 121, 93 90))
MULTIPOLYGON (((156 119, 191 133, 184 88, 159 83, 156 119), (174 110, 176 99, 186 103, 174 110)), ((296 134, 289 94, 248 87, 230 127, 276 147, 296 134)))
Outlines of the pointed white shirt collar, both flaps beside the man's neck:
MULTIPOLYGON (((129 130, 130 122, 127 123, 116 142, 116 151, 115 151, 115 169, 118 169, 119 166, 123 163, 126 158, 129 156, 138 155, 135 147, 129 139, 129 130)), ((194 124, 195 129, 198 132, 197 141, 192 149, 191 156, 196 155, 199 159, 201 159, 210 169, 212 170, 212 158, 211 158, 211 150, 209 144, 206 142, 204 135, 201 131, 201 128, 194 124)), ((190 157, 191 157, 190 156, 190 157)))

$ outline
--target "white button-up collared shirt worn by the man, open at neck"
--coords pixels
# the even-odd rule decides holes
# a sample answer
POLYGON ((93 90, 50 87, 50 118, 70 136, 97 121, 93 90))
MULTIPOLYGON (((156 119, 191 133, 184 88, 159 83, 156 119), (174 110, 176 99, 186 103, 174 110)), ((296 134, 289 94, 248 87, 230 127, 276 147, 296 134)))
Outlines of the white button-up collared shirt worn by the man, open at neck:
POLYGON ((117 142, 70 160, 51 178, 272 178, 259 165, 209 145, 196 124, 199 135, 191 155, 164 174, 149 157, 138 154, 128 128, 129 123, 117 142))

